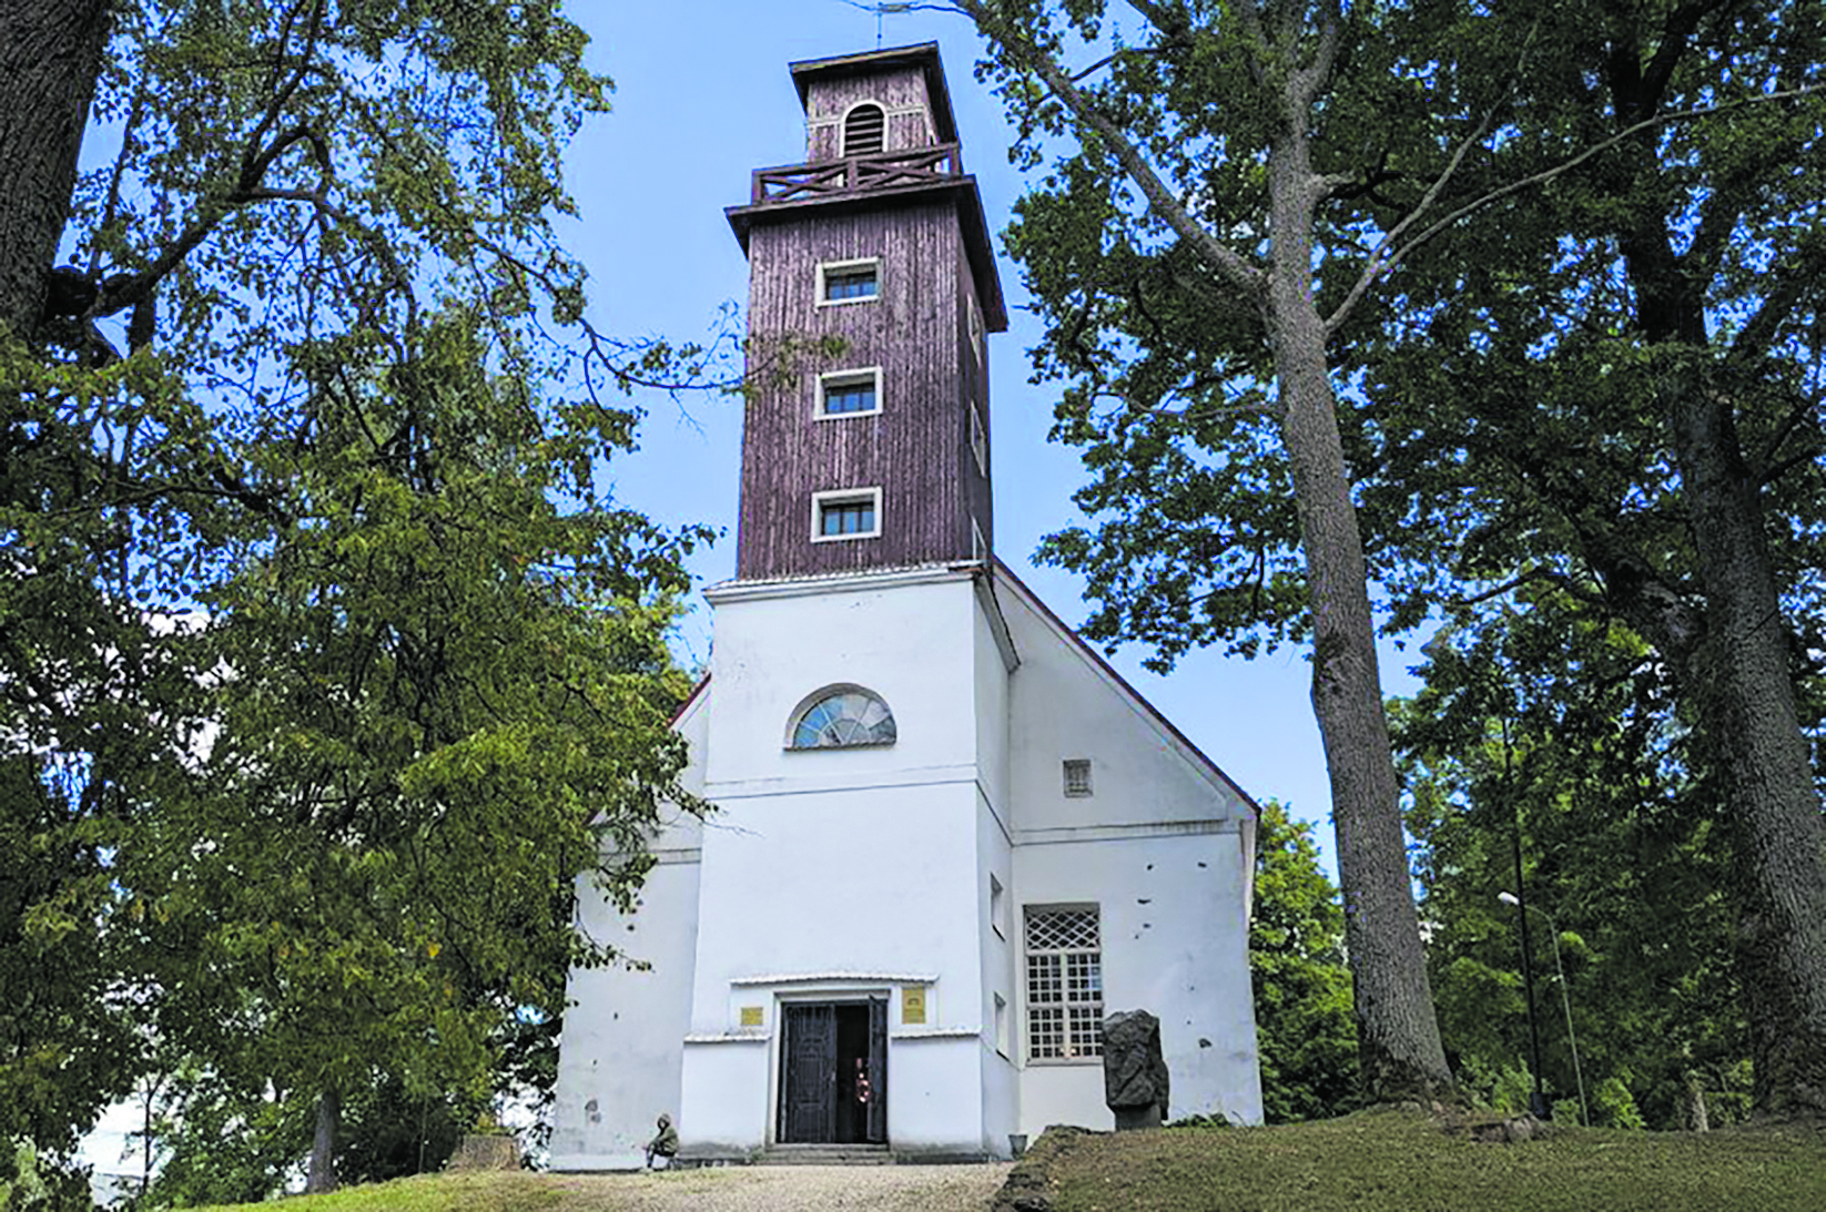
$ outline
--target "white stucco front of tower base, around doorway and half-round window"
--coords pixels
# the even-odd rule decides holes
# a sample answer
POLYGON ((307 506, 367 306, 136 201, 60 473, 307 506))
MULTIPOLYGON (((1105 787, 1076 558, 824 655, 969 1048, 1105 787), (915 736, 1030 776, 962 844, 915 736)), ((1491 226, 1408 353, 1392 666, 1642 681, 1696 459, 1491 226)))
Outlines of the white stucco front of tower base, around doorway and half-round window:
POLYGON ((685 1051, 681 1139, 688 1152, 767 1144, 780 1000, 880 991, 895 1024, 891 1144, 982 1152, 977 670, 955 641, 971 633, 971 582, 849 579, 712 601, 705 794, 719 812, 703 843, 690 1033, 705 1042, 685 1051), (880 695, 897 743, 785 748, 796 708, 838 684, 880 695), (913 982, 928 986, 918 1026, 898 1020, 913 982), (708 1042, 752 1031, 743 1008, 761 1009, 767 1044, 708 1042))

